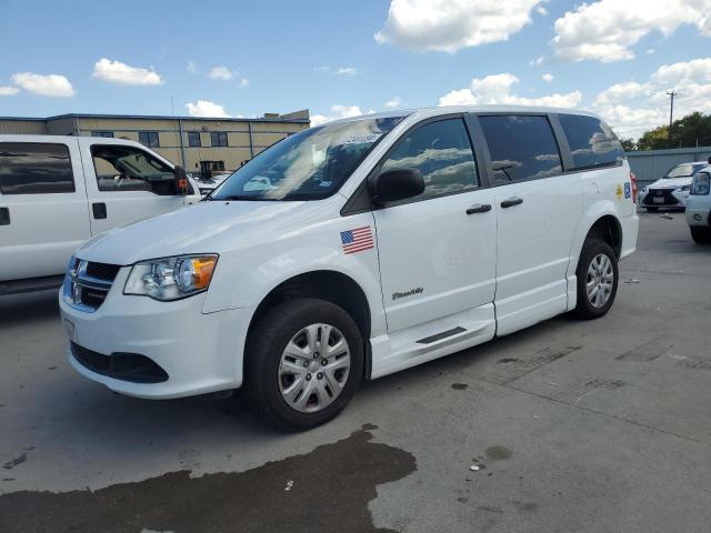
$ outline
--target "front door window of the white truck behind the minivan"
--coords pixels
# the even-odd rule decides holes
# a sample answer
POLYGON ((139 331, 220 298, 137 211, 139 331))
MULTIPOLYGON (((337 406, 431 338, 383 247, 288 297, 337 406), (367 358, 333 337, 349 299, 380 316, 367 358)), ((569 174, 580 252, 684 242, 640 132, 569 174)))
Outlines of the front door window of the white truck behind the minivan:
POLYGON ((100 191, 149 191, 176 194, 170 167, 133 147, 94 144, 91 147, 100 191))

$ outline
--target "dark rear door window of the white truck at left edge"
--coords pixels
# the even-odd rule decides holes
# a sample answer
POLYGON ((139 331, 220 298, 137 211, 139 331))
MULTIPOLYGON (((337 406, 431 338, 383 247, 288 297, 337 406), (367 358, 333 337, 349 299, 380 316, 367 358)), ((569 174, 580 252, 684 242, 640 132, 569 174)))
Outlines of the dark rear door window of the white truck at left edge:
POLYGON ((0 192, 74 192, 69 148, 43 142, 0 142, 0 192))

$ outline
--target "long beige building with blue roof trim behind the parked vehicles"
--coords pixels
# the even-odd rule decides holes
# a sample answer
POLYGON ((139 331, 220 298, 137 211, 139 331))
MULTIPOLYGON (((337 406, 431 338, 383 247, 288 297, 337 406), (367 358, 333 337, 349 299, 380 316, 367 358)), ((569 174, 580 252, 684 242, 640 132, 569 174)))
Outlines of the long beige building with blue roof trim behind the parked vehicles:
POLYGON ((202 119, 122 114, 61 114, 47 119, 0 117, 1 133, 114 137, 139 141, 188 172, 238 169, 274 142, 309 128, 309 111, 260 119, 202 119))

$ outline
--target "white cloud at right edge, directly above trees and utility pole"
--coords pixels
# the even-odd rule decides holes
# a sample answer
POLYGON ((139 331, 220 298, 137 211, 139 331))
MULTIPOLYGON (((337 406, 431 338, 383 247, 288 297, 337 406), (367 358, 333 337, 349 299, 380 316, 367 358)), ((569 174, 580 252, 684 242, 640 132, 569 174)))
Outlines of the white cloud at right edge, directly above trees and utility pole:
POLYGON ((669 121, 670 88, 677 90, 675 118, 711 112, 711 58, 664 64, 643 83, 615 83, 595 97, 592 108, 618 134, 637 138, 669 121))

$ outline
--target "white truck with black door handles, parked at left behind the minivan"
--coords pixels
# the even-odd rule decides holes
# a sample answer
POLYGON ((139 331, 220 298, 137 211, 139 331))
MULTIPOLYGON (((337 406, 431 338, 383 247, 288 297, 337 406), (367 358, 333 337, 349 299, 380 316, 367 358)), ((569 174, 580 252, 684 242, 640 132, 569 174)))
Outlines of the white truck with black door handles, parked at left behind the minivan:
POLYGON ((92 235, 200 200, 183 174, 133 141, 0 135, 0 295, 59 286, 92 235))

